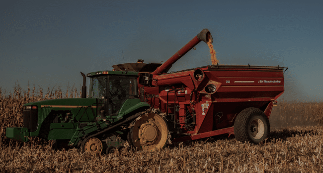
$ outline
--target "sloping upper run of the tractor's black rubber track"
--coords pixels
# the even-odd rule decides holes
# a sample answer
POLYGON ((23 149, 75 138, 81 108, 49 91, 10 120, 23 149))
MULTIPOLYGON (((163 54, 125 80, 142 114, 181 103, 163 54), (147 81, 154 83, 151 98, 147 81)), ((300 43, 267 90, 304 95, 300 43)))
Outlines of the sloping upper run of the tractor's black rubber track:
POLYGON ((91 138, 91 137, 94 137, 94 136, 100 135, 100 134, 102 134, 102 133, 104 133, 104 132, 107 132, 107 131, 109 131, 109 130, 113 130, 114 128, 118 128, 118 127, 120 127, 120 126, 121 126, 121 125, 123 125, 123 124, 131 123, 131 122, 132 122, 132 121, 134 121, 136 118, 140 117, 141 115, 145 114, 146 112, 147 112, 147 111, 138 112, 137 114, 132 115, 132 116, 130 116, 130 117, 128 117, 128 118, 126 118, 124 121, 121 121, 121 122, 119 122, 119 123, 117 123, 117 124, 115 124, 115 125, 113 125, 113 126, 111 126, 111 127, 107 128, 107 129, 100 130, 100 131, 98 131, 98 132, 96 132, 96 133, 94 133, 94 134, 91 134, 91 135, 89 135, 89 136, 88 136, 88 135, 84 135, 84 136, 79 140, 79 143, 77 144, 77 147, 78 147, 78 148, 80 148, 81 143, 82 143, 82 141, 83 141, 84 139, 88 139, 88 138, 91 138))

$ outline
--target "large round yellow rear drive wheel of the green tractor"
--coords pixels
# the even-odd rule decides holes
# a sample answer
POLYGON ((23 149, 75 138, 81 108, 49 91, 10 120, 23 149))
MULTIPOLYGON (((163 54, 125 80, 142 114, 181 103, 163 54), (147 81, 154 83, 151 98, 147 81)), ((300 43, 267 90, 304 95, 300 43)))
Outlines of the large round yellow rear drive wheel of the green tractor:
POLYGON ((130 130, 131 142, 138 150, 154 151, 165 146, 168 136, 166 122, 161 116, 142 115, 130 130))

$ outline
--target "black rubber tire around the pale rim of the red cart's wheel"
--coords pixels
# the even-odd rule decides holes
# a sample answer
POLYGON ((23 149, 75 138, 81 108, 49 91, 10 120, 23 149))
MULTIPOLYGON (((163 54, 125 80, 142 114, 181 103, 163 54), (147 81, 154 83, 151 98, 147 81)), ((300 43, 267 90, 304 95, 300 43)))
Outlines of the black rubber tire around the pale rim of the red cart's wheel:
POLYGON ((239 115, 237 116, 237 119, 235 120, 235 125, 234 125, 234 130, 235 130, 235 137, 238 141, 250 141, 255 143, 255 141, 252 141, 249 137, 248 133, 248 123, 250 119, 254 116, 262 116, 266 122, 263 122, 267 124, 267 129, 264 133, 264 135, 268 135, 270 131, 270 125, 269 125, 269 120, 266 117, 266 114, 263 113, 260 109, 258 108, 246 108, 243 109, 239 115))

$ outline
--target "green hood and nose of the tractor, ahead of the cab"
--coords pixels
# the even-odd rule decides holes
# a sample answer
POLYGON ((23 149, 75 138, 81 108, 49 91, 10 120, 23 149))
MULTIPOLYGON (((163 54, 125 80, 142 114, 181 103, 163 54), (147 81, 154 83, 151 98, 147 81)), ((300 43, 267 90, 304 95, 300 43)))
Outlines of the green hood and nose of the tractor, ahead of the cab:
POLYGON ((28 141, 27 136, 66 139, 73 136, 77 122, 93 122, 95 117, 95 98, 35 101, 23 105, 23 128, 6 128, 6 136, 22 142, 28 141))

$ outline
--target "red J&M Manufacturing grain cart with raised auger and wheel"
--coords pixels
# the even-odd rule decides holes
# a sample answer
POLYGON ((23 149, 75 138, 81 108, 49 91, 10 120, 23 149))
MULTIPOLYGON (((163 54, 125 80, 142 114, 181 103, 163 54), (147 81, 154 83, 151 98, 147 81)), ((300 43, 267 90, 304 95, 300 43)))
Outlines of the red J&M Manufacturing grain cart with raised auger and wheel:
MULTIPOLYGON (((166 73, 200 41, 213 42, 209 30, 204 29, 154 72, 140 74, 142 101, 165 115, 174 142, 229 133, 239 141, 259 143, 270 131, 268 119, 274 101, 284 92, 283 70, 288 68, 216 64, 166 73)), ((142 147, 145 139, 140 132, 129 135, 138 138, 134 146, 142 147)))

